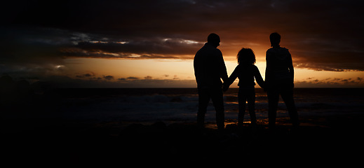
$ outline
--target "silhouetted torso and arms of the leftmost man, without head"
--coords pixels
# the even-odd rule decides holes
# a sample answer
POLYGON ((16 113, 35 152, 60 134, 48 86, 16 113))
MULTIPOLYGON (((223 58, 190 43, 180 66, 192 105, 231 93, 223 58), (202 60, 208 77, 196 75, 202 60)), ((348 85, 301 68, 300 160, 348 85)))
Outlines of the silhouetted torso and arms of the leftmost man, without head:
POLYGON ((194 71, 198 88, 220 87, 227 79, 227 68, 222 52, 210 43, 196 52, 194 57, 194 71))

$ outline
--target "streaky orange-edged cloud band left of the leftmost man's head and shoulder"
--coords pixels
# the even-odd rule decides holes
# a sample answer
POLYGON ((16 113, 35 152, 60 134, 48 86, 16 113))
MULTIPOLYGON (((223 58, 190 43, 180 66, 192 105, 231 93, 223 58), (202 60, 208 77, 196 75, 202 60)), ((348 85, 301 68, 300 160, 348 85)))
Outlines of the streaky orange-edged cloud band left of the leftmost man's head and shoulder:
POLYGON ((140 41, 81 41, 68 48, 62 48, 60 52, 69 57, 175 59, 181 58, 181 55, 193 55, 199 47, 201 42, 197 41, 180 38, 150 38, 140 41))

